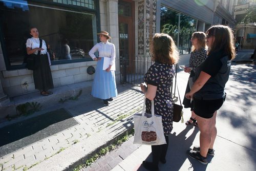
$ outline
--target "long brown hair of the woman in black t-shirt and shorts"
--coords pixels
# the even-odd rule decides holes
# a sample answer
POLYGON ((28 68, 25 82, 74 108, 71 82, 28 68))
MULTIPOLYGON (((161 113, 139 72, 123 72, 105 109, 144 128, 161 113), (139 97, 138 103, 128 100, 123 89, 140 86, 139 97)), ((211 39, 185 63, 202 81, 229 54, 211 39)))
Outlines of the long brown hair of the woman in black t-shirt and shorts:
POLYGON ((212 26, 206 31, 206 34, 215 37, 214 42, 209 47, 208 55, 222 50, 229 56, 229 60, 236 56, 234 35, 230 27, 223 25, 212 26))

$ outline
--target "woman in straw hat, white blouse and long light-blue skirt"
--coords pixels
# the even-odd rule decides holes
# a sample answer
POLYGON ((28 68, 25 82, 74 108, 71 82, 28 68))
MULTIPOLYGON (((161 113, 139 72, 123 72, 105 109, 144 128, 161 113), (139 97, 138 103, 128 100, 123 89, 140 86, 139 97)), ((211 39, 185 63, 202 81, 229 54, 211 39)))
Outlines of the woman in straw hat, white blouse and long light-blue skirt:
POLYGON ((97 61, 92 96, 103 99, 103 104, 109 105, 109 101, 113 101, 113 97, 117 97, 115 71, 111 70, 115 64, 116 50, 115 45, 108 41, 111 38, 108 32, 101 31, 97 34, 101 42, 89 51, 92 59, 97 61), (99 52, 98 57, 94 55, 96 51, 99 52), (110 58, 110 64, 106 70, 103 70, 105 58, 110 58))

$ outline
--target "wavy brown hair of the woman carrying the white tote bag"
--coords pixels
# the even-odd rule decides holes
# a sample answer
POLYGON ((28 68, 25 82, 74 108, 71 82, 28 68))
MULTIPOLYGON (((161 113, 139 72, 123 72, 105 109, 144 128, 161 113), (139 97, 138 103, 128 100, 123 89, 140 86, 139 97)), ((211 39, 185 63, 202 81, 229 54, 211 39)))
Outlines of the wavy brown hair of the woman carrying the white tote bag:
POLYGON ((156 33, 152 39, 151 53, 154 61, 172 65, 178 62, 179 52, 172 37, 156 33))

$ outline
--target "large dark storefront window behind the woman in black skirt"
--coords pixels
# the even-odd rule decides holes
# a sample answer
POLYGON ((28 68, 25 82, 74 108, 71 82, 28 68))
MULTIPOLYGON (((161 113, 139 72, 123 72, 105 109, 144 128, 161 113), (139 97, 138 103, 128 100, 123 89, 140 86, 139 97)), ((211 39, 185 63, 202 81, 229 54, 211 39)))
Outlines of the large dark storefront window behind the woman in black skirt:
MULTIPOLYGON (((74 1, 56 2, 65 4, 74 1)), ((89 1, 89 4, 92 2, 89 1)), ((0 16, 1 45, 9 66, 24 64, 26 41, 31 37, 29 28, 32 26, 38 29, 39 37, 47 42, 54 53, 52 61, 68 63, 89 58, 88 52, 97 42, 96 12, 88 12, 86 8, 60 7, 57 3, 0 0, 0 16), (71 60, 66 59, 62 53, 64 42, 70 47, 71 60)))

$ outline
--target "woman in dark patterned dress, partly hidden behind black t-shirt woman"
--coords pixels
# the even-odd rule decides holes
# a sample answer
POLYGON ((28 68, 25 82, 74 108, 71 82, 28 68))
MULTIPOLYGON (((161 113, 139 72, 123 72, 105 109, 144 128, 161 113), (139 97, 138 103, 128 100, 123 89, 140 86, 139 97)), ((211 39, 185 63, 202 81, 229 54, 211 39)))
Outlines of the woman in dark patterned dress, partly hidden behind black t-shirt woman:
MULTIPOLYGON (((186 93, 190 91, 190 88, 193 86, 193 78, 196 73, 197 67, 206 59, 207 50, 206 48, 206 35, 204 32, 195 32, 191 37, 192 43, 192 52, 190 54, 189 65, 184 68, 186 73, 190 73, 186 93)), ((186 125, 195 125, 197 126, 196 116, 193 112, 193 101, 184 97, 183 99, 184 108, 190 108, 191 116, 186 125)))

